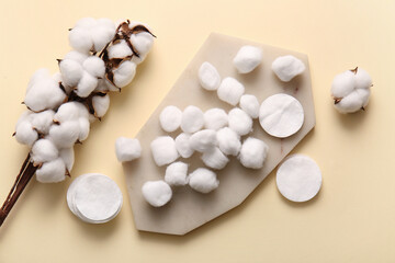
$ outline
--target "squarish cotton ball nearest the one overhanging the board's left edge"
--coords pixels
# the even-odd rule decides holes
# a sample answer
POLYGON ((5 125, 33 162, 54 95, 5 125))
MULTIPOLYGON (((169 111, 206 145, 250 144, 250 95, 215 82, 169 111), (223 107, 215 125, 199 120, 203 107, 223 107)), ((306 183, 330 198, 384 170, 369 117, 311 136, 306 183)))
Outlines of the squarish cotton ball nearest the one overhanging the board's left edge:
POLYGON ((170 136, 160 136, 151 141, 150 149, 158 167, 169 164, 179 158, 176 142, 170 136))

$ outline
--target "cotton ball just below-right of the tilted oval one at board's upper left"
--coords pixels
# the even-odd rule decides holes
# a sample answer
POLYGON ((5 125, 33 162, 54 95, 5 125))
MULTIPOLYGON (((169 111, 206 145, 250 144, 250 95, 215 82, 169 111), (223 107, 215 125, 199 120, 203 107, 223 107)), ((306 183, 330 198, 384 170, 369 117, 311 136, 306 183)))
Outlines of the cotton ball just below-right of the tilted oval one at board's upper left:
POLYGON ((217 90, 219 100, 236 106, 239 103, 245 87, 234 78, 225 78, 217 90))

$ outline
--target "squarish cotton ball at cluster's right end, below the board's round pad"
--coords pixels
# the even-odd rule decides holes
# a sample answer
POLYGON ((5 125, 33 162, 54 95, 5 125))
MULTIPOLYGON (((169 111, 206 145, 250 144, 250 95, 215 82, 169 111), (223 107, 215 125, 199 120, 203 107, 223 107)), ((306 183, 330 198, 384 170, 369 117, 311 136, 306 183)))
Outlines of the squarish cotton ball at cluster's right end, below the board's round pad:
POLYGON ((242 142, 238 158, 246 168, 261 169, 268 151, 269 146, 264 141, 249 137, 242 142))

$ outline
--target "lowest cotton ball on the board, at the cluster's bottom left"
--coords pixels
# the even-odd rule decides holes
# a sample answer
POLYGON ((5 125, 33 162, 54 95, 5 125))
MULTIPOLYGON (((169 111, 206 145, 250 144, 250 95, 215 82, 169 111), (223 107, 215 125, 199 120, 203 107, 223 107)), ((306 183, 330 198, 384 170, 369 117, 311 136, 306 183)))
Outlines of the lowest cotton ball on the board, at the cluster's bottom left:
POLYGON ((172 196, 172 191, 165 181, 145 182, 142 192, 144 198, 154 207, 166 205, 172 196))

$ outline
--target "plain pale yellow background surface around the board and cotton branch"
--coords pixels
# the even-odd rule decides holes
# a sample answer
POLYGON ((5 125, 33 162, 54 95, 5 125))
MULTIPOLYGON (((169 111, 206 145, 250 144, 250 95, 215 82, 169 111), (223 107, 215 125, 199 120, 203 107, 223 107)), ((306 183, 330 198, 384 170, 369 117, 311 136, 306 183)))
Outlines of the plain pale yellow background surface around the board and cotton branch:
POLYGON ((102 123, 76 147, 74 175, 101 172, 124 207, 102 226, 67 208, 71 180, 32 181, 0 228, 0 262, 394 262, 394 1, 5 1, 0 9, 0 199, 27 149, 11 134, 30 76, 56 70, 67 28, 82 16, 147 22, 158 39, 131 87, 112 95, 102 123), (136 231, 114 141, 134 136, 211 32, 305 53, 317 125, 293 152, 320 165, 324 185, 306 204, 285 201, 274 174, 246 203, 185 237, 136 231), (373 77, 366 112, 339 115, 334 76, 360 66, 373 77))

